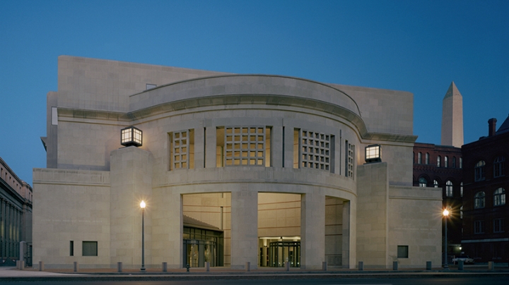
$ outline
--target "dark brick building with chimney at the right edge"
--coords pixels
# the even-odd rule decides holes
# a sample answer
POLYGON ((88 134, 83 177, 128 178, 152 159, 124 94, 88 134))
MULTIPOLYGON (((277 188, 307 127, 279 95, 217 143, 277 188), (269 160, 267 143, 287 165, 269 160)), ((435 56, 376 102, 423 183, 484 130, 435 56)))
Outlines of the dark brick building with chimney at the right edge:
POLYGON ((488 136, 462 146, 464 157, 462 250, 476 262, 509 261, 509 117, 496 131, 488 120, 488 136))

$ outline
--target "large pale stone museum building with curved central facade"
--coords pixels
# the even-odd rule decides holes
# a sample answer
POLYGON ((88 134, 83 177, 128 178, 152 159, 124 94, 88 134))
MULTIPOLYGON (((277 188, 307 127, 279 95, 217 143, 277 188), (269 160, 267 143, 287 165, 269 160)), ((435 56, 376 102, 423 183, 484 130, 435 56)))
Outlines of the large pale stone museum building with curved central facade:
POLYGON ((413 95, 59 56, 34 265, 441 264, 442 190, 414 187, 413 95), (144 201, 144 208, 141 202, 144 201))

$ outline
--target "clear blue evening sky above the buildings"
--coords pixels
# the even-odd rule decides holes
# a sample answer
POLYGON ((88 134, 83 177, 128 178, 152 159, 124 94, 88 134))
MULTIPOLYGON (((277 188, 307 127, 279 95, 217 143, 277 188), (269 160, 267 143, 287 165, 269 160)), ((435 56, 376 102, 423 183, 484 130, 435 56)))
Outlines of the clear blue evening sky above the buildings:
POLYGON ((62 54, 409 91, 414 135, 435 144, 454 81, 472 142, 509 114, 508 15, 505 0, 0 0, 0 157, 30 184, 46 166, 62 54))

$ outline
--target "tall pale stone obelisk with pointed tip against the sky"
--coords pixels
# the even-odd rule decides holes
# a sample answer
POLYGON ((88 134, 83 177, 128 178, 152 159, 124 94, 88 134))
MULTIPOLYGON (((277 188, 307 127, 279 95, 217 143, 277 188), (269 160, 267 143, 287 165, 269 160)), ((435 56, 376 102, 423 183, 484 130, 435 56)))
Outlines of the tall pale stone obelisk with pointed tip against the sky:
POLYGON ((441 145, 463 145, 463 97, 452 81, 442 102, 441 145))

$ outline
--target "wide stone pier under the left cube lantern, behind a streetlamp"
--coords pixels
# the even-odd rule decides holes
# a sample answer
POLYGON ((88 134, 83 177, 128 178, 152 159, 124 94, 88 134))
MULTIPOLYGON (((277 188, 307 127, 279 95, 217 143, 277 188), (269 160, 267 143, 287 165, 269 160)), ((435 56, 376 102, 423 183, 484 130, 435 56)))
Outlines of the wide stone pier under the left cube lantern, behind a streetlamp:
POLYGON ((151 265, 152 199, 151 152, 139 147, 113 150, 110 157, 110 264, 141 267, 141 208, 144 210, 145 265, 151 265))

